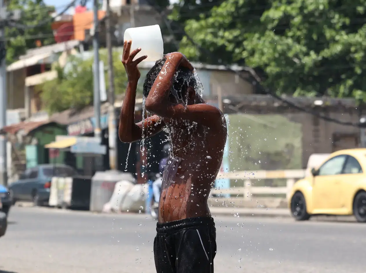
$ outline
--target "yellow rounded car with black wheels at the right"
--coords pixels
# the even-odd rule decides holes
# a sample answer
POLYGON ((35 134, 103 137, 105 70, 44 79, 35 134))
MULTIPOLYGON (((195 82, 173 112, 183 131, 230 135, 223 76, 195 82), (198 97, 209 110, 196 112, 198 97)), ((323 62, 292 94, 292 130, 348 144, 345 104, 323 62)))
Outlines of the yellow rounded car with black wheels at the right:
POLYGON ((366 222, 366 149, 332 153, 311 174, 295 183, 288 200, 296 220, 353 214, 366 222))

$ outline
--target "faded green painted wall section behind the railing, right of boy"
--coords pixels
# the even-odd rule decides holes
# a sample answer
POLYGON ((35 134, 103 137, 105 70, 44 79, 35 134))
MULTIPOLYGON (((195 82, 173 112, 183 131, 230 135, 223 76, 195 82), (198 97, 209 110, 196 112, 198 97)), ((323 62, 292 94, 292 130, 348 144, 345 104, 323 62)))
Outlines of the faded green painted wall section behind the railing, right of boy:
MULTIPOLYGON (((302 167, 302 125, 281 115, 229 115, 230 171, 285 170, 302 167)), ((236 185, 238 182, 232 182, 236 185)), ((243 183, 241 181, 240 183, 243 183)), ((279 186, 281 180, 256 181, 279 186)), ((242 185, 238 185, 242 186, 242 185)))

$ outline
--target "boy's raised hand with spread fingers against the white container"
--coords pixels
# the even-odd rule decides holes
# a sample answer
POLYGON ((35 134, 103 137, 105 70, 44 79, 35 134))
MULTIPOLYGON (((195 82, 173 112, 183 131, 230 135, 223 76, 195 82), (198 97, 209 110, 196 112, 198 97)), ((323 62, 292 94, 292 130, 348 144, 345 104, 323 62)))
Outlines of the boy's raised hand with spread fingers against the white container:
POLYGON ((123 44, 123 55, 122 55, 122 63, 124 66, 124 69, 126 70, 128 81, 135 81, 137 82, 140 78, 141 74, 138 70, 137 65, 147 58, 147 56, 142 56, 137 58, 135 61, 133 59, 135 58, 136 54, 141 51, 141 48, 137 48, 134 51, 131 52, 131 41, 124 41, 123 44))

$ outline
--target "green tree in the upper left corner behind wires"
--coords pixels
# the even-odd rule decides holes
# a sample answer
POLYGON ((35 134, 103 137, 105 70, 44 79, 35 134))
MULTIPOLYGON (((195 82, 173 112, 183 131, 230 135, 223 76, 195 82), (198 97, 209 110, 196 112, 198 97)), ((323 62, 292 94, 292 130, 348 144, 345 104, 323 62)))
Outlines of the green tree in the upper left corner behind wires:
MULTIPOLYGON (((9 11, 22 10, 22 16, 16 23, 19 25, 33 26, 42 21, 51 19, 51 12, 54 7, 47 6, 43 0, 9 0, 7 1, 9 11)), ((36 47, 36 41, 40 40, 42 45, 55 43, 52 34, 51 21, 36 28, 23 29, 11 23, 5 28, 7 39, 7 63, 14 62, 20 55, 26 53, 29 48, 36 47)))

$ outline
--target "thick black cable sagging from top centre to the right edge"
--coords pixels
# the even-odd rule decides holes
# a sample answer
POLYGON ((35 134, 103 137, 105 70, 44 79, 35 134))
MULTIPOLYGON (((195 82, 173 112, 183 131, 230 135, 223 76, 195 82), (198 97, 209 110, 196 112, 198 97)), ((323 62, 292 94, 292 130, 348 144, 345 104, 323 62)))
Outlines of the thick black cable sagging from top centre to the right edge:
MULTIPOLYGON (((156 6, 154 5, 153 3, 150 2, 150 0, 146 0, 147 3, 152 6, 154 8, 154 10, 161 14, 161 15, 165 15, 165 12, 160 10, 160 7, 159 6, 156 6)), ((167 25, 169 24, 169 27, 167 25, 167 28, 168 28, 168 31, 171 30, 171 23, 169 23, 167 20, 164 20, 164 23, 167 25)), ((181 33, 184 34, 187 39, 199 50, 199 51, 203 51, 205 52, 206 54, 208 55, 211 55, 213 56, 213 54, 205 49, 205 48, 202 48, 200 45, 198 45, 197 43, 195 43, 195 41, 186 33, 186 31, 184 30, 184 28, 182 28, 182 26, 179 25, 179 28, 181 29, 181 33)), ((169 33, 173 36, 173 39, 175 40, 175 36, 174 36, 174 33, 173 32, 170 32, 169 33)), ((176 43, 178 43, 176 41, 176 43)), ((242 74, 240 74, 238 71, 236 70, 233 70, 232 68, 230 68, 230 66, 228 64, 225 64, 225 63, 221 63, 221 65, 224 65, 227 70, 231 71, 231 72, 234 72, 236 75, 238 75, 240 77, 240 79, 242 80, 245 80, 247 82, 249 82, 250 84, 252 84, 246 77, 244 77, 242 74)), ((297 105, 296 103, 293 103, 291 101, 288 101, 287 99, 283 98, 283 97, 280 97, 279 95, 277 95, 275 92, 271 92, 268 88, 264 87, 262 85, 262 80, 261 78, 258 76, 257 73, 255 73, 254 69, 248 69, 248 72, 251 74, 251 76, 253 77, 253 79, 255 80, 256 84, 262 88, 262 90, 268 94, 268 95, 271 95, 272 97, 278 99, 279 101, 282 101, 284 103, 286 103, 287 105, 291 106, 292 108, 295 108, 297 110, 300 110, 302 112, 305 112, 305 113, 309 113, 315 117, 318 117, 319 119, 322 119, 322 120, 325 120, 325 121, 328 121, 328 122, 332 122, 332 123, 336 123, 336 124, 340 124, 340 125, 345 125, 345 126, 353 126, 353 127, 358 127, 358 128, 365 128, 366 127, 366 124, 365 123, 361 123, 361 122, 358 122, 358 123, 353 123, 353 122, 346 122, 346 121, 340 121, 340 120, 337 120, 337 119, 333 119, 331 117, 327 117, 327 116, 324 116, 322 114, 319 114, 317 112, 314 112, 310 109, 306 109, 306 108, 303 108, 299 105, 297 105)))

